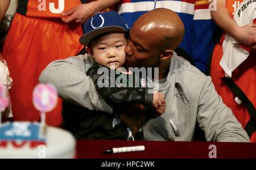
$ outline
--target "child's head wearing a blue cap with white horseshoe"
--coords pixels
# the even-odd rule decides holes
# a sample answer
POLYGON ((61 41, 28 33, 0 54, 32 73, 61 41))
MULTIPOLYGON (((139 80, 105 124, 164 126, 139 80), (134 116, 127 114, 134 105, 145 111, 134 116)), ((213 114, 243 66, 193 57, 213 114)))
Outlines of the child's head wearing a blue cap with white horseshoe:
POLYGON ((102 12, 86 21, 80 42, 97 63, 107 67, 113 63, 117 69, 125 62, 128 31, 128 25, 117 12, 102 12))

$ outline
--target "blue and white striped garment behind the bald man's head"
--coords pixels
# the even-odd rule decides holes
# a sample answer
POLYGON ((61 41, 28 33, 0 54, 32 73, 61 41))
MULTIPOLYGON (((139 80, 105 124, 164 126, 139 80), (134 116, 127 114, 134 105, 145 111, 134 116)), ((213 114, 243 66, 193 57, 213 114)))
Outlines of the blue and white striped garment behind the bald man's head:
POLYGON ((198 69, 206 73, 209 56, 215 44, 213 36, 217 28, 210 17, 209 2, 205 0, 122 0, 118 6, 118 13, 131 27, 139 16, 160 7, 169 8, 180 16, 185 27, 180 48, 189 54, 198 69))

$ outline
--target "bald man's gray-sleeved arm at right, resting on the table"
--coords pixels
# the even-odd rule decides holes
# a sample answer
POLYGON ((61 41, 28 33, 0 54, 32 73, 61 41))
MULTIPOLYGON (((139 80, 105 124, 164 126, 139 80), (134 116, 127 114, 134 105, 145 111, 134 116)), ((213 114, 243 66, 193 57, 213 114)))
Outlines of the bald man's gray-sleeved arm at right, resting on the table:
POLYGON ((209 77, 200 94, 197 113, 199 127, 207 141, 249 142, 250 139, 231 109, 226 107, 217 94, 209 77))

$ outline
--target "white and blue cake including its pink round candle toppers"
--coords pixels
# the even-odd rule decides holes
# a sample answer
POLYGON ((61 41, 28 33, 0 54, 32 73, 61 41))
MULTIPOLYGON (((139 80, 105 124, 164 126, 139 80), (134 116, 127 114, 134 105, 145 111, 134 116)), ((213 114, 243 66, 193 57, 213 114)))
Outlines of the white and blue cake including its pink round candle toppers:
POLYGON ((46 126, 46 112, 57 104, 57 91, 51 84, 38 84, 33 104, 41 122, 7 122, 1 124, 1 112, 9 98, 0 84, 0 158, 74 158, 76 141, 71 133, 46 126))

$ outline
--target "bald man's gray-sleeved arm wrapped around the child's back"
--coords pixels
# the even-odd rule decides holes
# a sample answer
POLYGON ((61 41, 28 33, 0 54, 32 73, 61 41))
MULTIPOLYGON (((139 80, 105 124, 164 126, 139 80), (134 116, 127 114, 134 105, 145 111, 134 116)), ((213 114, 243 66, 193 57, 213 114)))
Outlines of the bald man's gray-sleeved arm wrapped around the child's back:
POLYGON ((90 110, 112 113, 113 109, 98 96, 86 68, 92 62, 87 56, 69 57, 50 63, 39 77, 41 83, 51 83, 64 100, 90 110))

